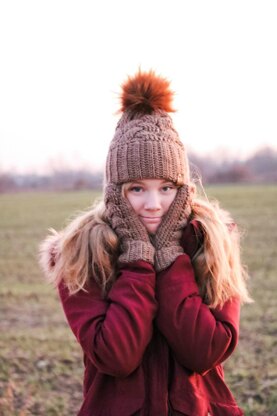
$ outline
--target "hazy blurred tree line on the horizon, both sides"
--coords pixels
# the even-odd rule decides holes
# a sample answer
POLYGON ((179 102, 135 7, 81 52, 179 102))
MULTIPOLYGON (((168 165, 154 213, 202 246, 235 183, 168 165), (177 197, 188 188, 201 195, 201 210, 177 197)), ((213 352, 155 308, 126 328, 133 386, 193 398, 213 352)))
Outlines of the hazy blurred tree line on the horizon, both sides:
MULTIPOLYGON (((271 147, 257 150, 245 160, 230 159, 228 154, 199 156, 189 153, 192 179, 204 184, 277 183, 277 151, 271 147)), ((47 175, 1 172, 0 192, 81 190, 103 187, 103 173, 87 169, 55 167, 47 175)))

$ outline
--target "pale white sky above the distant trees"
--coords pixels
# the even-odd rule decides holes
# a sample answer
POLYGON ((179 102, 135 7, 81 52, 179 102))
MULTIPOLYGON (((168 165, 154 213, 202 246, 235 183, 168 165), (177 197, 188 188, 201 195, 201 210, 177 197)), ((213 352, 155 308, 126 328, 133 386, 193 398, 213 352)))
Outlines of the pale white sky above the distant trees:
POLYGON ((172 82, 189 150, 277 148, 277 1, 2 0, 0 171, 104 166, 139 65, 172 82))

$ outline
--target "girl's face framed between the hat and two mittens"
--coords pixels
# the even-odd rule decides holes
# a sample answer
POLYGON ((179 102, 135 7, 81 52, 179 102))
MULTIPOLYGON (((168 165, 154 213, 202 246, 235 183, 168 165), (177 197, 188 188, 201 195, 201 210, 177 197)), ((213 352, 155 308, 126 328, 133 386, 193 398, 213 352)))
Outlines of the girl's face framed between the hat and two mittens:
POLYGON ((178 187, 164 179, 141 179, 126 185, 125 196, 144 224, 154 234, 173 202, 178 187))

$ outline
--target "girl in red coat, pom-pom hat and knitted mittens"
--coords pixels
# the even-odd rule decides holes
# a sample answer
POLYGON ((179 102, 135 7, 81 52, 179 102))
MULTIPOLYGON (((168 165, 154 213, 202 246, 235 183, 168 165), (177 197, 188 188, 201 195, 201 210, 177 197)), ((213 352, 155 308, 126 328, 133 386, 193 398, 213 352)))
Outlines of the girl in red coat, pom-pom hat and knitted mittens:
POLYGON ((196 196, 172 96, 153 71, 128 78, 104 201, 41 246, 84 352, 80 416, 243 414, 221 365, 250 301, 239 233, 196 196))

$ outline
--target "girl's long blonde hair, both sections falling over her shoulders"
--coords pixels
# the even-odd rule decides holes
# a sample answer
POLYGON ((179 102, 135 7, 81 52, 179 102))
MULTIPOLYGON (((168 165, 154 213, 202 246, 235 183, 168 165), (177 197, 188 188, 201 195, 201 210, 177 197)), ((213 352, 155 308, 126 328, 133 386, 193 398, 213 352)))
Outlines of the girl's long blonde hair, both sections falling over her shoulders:
MULTIPOLYGON (((200 294, 211 308, 221 307, 237 297, 251 302, 246 288, 248 277, 240 258, 240 232, 227 211, 217 202, 196 197, 191 185, 192 214, 204 234, 202 249, 192 260, 200 294)), ((103 202, 79 215, 60 234, 60 256, 52 281, 61 279, 70 294, 85 287, 94 278, 103 295, 111 288, 117 274, 119 241, 108 223, 103 202)))

